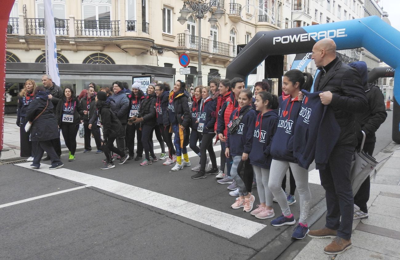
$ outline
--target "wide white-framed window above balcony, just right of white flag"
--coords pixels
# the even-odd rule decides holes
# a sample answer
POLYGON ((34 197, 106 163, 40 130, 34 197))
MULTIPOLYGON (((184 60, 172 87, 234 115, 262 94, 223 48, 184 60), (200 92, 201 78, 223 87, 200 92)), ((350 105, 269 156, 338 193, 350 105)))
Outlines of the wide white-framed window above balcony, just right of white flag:
POLYGON ((85 29, 111 28, 111 0, 82 0, 85 29))

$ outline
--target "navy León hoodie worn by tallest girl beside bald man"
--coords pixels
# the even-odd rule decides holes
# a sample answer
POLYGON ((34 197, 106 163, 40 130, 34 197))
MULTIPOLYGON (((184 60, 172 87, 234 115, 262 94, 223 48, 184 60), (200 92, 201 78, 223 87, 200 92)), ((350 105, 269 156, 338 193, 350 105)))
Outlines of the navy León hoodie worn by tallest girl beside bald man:
POLYGON ((301 103, 298 98, 287 98, 280 103, 279 120, 271 144, 272 159, 297 163, 293 156, 293 136, 301 103))

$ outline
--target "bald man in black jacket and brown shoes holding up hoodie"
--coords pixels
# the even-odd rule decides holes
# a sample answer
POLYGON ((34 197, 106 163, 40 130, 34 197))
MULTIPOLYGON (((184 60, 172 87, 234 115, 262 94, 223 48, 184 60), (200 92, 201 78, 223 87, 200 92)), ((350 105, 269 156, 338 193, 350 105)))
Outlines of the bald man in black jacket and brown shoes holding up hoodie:
POLYGON ((332 39, 318 41, 312 48, 311 58, 320 70, 314 90, 323 91, 321 102, 333 109, 340 136, 325 169, 320 169, 321 185, 326 191, 326 225, 308 235, 334 238, 324 252, 340 254, 351 247, 354 201, 350 168, 357 145, 354 113, 366 110, 368 101, 360 74, 336 57, 336 44, 332 39))

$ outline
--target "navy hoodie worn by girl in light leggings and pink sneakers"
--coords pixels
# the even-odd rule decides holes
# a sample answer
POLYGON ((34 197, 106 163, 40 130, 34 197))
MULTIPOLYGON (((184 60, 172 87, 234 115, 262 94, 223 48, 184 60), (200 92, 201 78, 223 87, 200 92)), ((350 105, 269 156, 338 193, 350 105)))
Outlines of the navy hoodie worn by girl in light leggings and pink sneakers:
POLYGON ((271 143, 278 124, 278 110, 257 115, 254 126, 253 144, 249 154, 250 163, 264 169, 271 167, 271 143), (263 152, 261 152, 263 151, 263 152))

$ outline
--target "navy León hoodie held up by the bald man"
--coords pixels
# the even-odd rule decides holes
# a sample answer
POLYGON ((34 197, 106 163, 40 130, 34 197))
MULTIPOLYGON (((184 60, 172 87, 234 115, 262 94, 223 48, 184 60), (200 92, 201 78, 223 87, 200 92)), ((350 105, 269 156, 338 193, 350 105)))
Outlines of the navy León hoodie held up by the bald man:
POLYGON ((304 98, 296 121, 293 155, 304 169, 308 169, 314 158, 316 169, 325 169, 338 141, 340 127, 332 108, 321 103, 319 94, 322 91, 309 93, 302 89, 302 93, 304 98))

